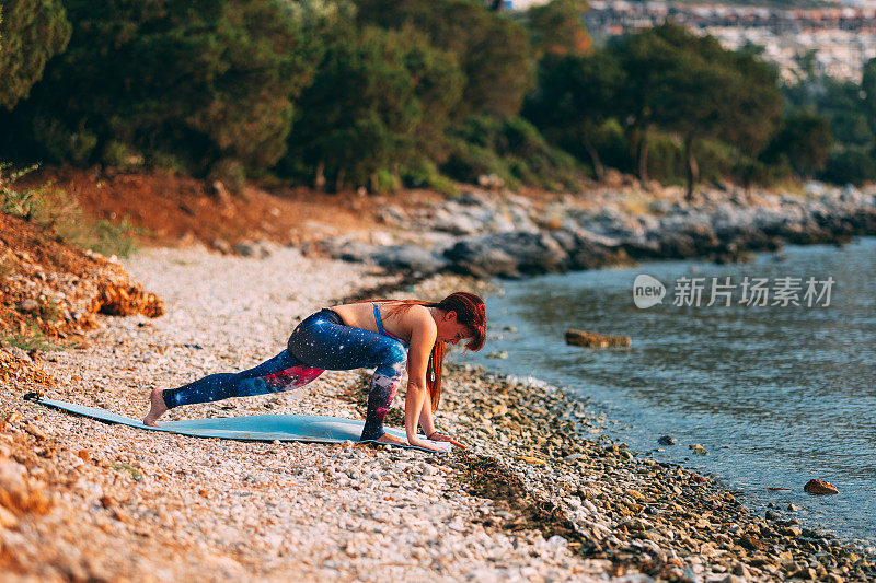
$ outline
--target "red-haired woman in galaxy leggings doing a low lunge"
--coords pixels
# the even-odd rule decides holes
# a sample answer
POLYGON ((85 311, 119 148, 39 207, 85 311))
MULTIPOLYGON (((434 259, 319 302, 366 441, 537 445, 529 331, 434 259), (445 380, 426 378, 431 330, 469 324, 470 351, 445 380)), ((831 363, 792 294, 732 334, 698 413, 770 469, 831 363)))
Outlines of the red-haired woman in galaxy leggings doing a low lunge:
POLYGON ((159 417, 181 405, 291 390, 310 383, 324 370, 376 366, 360 441, 436 450, 417 436, 419 421, 427 439, 462 447, 453 438, 436 431, 431 419, 441 394, 443 345, 468 339, 466 348, 480 350, 485 337, 484 301, 473 293, 456 292, 437 303, 377 300, 323 308, 296 327, 286 350, 254 369, 211 374, 180 388, 152 390, 143 423, 157 427, 159 417), (406 442, 383 431, 383 418, 405 363, 406 442))

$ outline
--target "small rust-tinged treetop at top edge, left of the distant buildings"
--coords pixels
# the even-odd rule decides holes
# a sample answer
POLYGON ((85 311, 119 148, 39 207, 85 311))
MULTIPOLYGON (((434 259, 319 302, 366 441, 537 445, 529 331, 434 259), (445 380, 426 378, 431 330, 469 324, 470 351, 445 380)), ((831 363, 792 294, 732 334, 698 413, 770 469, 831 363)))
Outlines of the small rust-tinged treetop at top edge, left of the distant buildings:
POLYGON ((537 59, 544 55, 586 55, 592 45, 581 15, 586 0, 551 0, 527 11, 530 44, 537 59))

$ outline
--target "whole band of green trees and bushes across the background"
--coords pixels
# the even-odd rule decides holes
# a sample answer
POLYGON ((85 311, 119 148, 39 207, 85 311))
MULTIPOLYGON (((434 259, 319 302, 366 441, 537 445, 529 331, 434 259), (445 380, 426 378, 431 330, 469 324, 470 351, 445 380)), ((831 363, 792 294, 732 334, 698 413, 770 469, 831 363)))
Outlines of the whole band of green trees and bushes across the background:
POLYGON ((873 74, 781 86, 757 47, 672 23, 595 47, 584 10, 8 0, 0 158, 326 191, 569 190, 606 167, 691 195, 700 180, 873 177, 873 74))

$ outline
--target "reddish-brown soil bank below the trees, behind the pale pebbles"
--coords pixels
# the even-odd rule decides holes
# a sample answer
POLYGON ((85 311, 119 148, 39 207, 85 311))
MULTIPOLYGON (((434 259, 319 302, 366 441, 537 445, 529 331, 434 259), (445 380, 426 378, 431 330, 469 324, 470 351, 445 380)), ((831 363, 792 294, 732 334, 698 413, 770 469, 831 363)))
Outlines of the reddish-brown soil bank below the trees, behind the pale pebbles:
MULTIPOLYGON (((24 185, 51 182, 97 219, 128 219, 142 228, 147 246, 176 246, 200 241, 267 240, 301 243, 349 231, 378 228, 377 211, 388 200, 428 205, 440 195, 405 190, 391 196, 356 193, 322 194, 303 187, 252 185, 238 194, 171 172, 127 173, 78 168, 45 168, 24 185)), ((384 228, 381 228, 384 229, 384 228)))

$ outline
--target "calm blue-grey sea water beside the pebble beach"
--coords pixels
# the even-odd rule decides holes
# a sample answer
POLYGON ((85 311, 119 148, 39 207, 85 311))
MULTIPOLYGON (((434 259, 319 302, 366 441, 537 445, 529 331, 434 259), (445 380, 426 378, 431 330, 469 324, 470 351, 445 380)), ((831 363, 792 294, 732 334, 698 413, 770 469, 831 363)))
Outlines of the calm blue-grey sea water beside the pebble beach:
POLYGON ((613 438, 716 478, 752 510, 772 502, 804 525, 876 543, 876 238, 787 247, 746 265, 661 261, 500 285, 487 299, 486 347, 457 360, 568 386, 615 421, 613 438), (662 303, 635 306, 639 273, 666 285, 662 303), (746 277, 760 279, 768 305, 742 301, 746 277), (699 306, 691 294, 692 305, 675 305, 682 278, 703 284, 699 306), (725 296, 706 305, 715 278, 729 283, 718 288, 729 306, 725 296), (829 305, 825 295, 806 305, 809 278, 817 292, 833 279, 829 305), (632 348, 566 346, 568 328, 626 335, 632 348), (659 445, 660 435, 676 445, 659 445), (839 495, 806 494, 810 478, 839 495))

